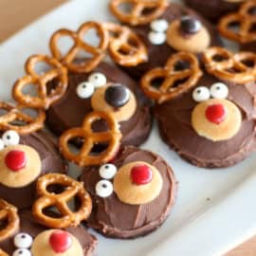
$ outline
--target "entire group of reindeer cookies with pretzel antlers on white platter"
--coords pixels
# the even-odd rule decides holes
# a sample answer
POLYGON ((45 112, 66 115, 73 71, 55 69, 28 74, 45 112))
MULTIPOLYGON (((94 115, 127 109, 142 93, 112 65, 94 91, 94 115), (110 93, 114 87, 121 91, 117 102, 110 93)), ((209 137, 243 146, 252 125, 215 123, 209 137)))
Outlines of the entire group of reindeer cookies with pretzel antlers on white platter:
POLYGON ((153 119, 197 167, 256 150, 256 1, 185 2, 111 0, 119 23, 59 29, 50 56, 27 59, 13 102, 0 101, 0 255, 90 256, 88 229, 131 239, 159 228, 177 182, 172 163, 140 148, 153 119))

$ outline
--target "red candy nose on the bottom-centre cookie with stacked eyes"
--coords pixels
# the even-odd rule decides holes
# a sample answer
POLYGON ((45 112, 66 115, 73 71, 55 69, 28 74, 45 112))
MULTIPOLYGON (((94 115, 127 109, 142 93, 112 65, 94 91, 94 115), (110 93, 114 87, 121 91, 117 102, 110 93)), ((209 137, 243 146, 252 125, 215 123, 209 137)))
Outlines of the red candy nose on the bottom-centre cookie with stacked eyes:
POLYGON ((152 180, 152 171, 147 165, 135 166, 131 171, 132 182, 137 185, 145 185, 152 180))

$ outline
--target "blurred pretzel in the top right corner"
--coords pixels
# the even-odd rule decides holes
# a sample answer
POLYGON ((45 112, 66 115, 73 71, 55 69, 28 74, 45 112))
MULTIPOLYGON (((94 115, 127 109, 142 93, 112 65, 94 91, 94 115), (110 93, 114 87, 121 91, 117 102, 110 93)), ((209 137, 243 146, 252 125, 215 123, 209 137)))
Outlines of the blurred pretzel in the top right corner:
POLYGON ((238 12, 224 16, 218 24, 220 33, 240 44, 256 41, 256 15, 253 9, 256 9, 256 1, 245 1, 238 12), (232 29, 232 26, 238 26, 238 29, 232 29))

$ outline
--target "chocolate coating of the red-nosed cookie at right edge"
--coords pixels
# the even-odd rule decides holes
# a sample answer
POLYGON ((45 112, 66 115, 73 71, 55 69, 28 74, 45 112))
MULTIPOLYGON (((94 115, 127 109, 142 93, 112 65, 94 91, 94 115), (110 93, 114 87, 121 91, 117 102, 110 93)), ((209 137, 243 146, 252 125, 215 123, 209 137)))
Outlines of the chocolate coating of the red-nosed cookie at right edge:
MULTIPOLYGON (((221 81, 205 73, 197 86, 210 87, 215 82, 221 81)), ((243 116, 239 132, 228 140, 213 142, 195 133, 191 120, 192 110, 197 104, 192 100, 193 88, 173 101, 155 105, 155 118, 162 139, 179 155, 198 167, 229 167, 256 149, 255 83, 225 83, 229 87, 228 100, 239 107, 243 116)))

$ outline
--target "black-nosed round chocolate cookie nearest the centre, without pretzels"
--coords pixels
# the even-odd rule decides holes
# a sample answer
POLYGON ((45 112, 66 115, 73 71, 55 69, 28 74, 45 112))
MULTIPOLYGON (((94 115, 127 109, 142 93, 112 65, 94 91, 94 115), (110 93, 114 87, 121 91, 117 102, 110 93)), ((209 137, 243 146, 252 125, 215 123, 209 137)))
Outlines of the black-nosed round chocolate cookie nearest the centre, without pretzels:
MULTIPOLYGON (((64 98, 47 111, 48 127, 55 134, 80 127, 92 110, 106 110, 119 120, 122 144, 138 146, 149 136, 152 127, 149 102, 137 82, 119 67, 101 63, 90 74, 69 73, 68 81, 64 98)), ((100 124, 98 129, 103 130, 104 125, 100 124)))

